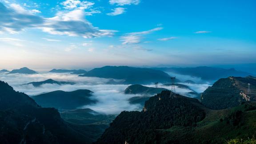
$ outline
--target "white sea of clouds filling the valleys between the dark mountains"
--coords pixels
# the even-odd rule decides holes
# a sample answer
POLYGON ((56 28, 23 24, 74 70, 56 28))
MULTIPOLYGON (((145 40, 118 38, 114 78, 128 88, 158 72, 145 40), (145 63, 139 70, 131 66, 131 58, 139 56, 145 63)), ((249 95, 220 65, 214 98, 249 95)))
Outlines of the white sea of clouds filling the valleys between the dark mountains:
MULTIPOLYGON (((29 96, 35 96, 44 92, 52 92, 56 90, 62 91, 75 91, 77 89, 88 89, 93 93, 92 99, 98 100, 96 104, 85 105, 82 108, 91 108, 92 110, 104 114, 119 114, 122 111, 135 111, 141 110, 140 104, 130 104, 128 99, 133 94, 124 94, 127 84, 107 84, 110 79, 98 78, 98 77, 80 77, 78 75, 72 75, 69 73, 40 73, 40 74, 0 74, 0 80, 7 82, 16 91, 24 92, 29 96), (68 81, 75 82, 76 84, 70 85, 58 85, 58 84, 43 84, 40 87, 34 87, 32 84, 24 85, 29 82, 44 81, 47 79, 53 79, 56 81, 68 81)), ((116 80, 118 81, 118 80, 116 80)), ((185 84, 185 83, 182 83, 185 84)), ((209 85, 208 84, 185 84, 190 86, 194 91, 200 93, 203 92, 209 85)), ((155 85, 145 85, 148 87, 154 87, 155 85)), ((159 87, 170 89, 171 87, 162 86, 159 87)), ((176 88, 176 92, 190 96, 187 92, 192 90, 185 88, 176 88)))

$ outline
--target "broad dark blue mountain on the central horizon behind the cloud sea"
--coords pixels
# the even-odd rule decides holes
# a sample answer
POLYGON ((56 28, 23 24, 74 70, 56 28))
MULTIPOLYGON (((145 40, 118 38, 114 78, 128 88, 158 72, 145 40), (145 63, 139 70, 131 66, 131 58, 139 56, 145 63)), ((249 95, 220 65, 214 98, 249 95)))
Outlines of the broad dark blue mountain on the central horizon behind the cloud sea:
POLYGON ((80 76, 124 80, 123 83, 125 84, 166 83, 170 81, 170 76, 165 72, 150 68, 134 68, 128 66, 94 68, 80 76))

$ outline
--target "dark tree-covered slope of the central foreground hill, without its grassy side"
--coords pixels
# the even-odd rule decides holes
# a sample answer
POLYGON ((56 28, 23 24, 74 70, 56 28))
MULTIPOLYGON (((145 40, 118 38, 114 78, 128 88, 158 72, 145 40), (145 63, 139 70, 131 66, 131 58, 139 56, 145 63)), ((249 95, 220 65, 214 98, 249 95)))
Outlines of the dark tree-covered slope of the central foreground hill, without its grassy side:
POLYGON ((175 125, 195 127, 205 112, 198 100, 163 91, 146 101, 142 112, 121 112, 97 141, 98 144, 153 144, 156 130, 175 125), (161 100, 159 100, 159 97, 161 100))

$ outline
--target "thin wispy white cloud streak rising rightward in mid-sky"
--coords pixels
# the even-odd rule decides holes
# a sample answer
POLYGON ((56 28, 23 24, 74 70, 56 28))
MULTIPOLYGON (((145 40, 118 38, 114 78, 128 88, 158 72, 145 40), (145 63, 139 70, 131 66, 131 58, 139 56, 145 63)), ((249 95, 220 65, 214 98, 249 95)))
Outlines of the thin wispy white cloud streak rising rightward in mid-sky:
POLYGON ((158 28, 153 28, 148 31, 143 31, 143 32, 131 32, 131 33, 126 33, 124 36, 121 36, 120 39, 123 41, 122 44, 137 44, 140 43, 142 39, 142 35, 147 35, 152 32, 160 31, 161 27, 158 28))

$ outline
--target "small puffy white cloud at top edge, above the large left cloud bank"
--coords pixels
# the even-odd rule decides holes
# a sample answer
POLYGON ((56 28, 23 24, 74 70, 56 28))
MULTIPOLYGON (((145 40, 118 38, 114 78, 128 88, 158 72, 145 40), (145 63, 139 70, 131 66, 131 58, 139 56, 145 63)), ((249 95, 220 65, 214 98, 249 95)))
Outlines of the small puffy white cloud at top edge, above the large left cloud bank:
POLYGON ((61 3, 64 5, 65 9, 73 10, 73 9, 88 9, 91 8, 94 3, 89 2, 89 1, 80 1, 80 0, 66 0, 61 3))

